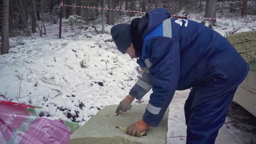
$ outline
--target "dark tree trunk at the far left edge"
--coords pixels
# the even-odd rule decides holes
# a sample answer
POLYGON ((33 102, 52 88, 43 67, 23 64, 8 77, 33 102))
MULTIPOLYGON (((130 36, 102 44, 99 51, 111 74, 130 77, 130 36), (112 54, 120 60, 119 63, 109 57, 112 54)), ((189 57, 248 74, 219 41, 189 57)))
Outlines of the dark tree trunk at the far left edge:
POLYGON ((9 52, 9 1, 3 1, 3 20, 2 20, 2 52, 9 52))

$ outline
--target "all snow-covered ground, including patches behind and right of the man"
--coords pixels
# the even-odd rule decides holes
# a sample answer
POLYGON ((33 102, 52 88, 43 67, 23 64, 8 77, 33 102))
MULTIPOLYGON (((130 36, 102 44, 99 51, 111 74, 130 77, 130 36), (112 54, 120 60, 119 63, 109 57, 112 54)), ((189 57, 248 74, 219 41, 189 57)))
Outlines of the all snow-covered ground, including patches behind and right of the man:
MULTIPOLYGON (((119 21, 128 19, 124 17, 119 21)), ((255 25, 256 22, 219 20, 214 29, 225 36, 235 28, 240 28, 237 33, 256 31, 255 25)), ((115 49, 109 34, 112 26, 106 25, 105 34, 97 34, 91 26, 79 28, 77 40, 66 20, 63 20, 62 38, 58 39, 58 26, 47 23, 47 35, 43 37, 34 34, 10 38, 10 53, 0 56, 0 100, 40 106, 43 108, 37 110, 39 116, 84 124, 98 110, 118 104, 129 93, 139 76, 138 65, 135 59, 115 49)), ((100 31, 101 25, 96 28, 100 31)), ((147 103, 149 94, 142 103, 147 103)), ((183 105, 188 94, 186 90, 174 95, 168 143, 185 143, 183 105)), ((243 142, 255 136, 243 131, 236 134, 243 142)))

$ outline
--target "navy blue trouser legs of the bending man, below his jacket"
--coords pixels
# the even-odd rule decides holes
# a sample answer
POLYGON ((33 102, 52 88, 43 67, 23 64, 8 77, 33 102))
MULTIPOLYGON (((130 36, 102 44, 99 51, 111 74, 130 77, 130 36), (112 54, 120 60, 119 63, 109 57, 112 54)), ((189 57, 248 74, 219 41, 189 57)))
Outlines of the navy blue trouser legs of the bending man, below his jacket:
POLYGON ((218 131, 225 122, 236 89, 237 87, 213 95, 211 93, 214 92, 208 91, 210 89, 207 87, 191 89, 184 105, 187 144, 214 144, 218 131))

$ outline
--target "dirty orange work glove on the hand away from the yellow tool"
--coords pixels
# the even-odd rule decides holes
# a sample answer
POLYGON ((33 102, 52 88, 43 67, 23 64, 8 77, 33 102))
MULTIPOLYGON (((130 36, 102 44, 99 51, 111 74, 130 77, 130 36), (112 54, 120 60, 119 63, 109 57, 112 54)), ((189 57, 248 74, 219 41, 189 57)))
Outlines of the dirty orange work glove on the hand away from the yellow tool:
POLYGON ((115 113, 121 115, 123 111, 126 112, 127 110, 131 110, 131 103, 133 100, 134 98, 130 94, 127 95, 122 101, 120 101, 117 110, 115 110, 115 113))

